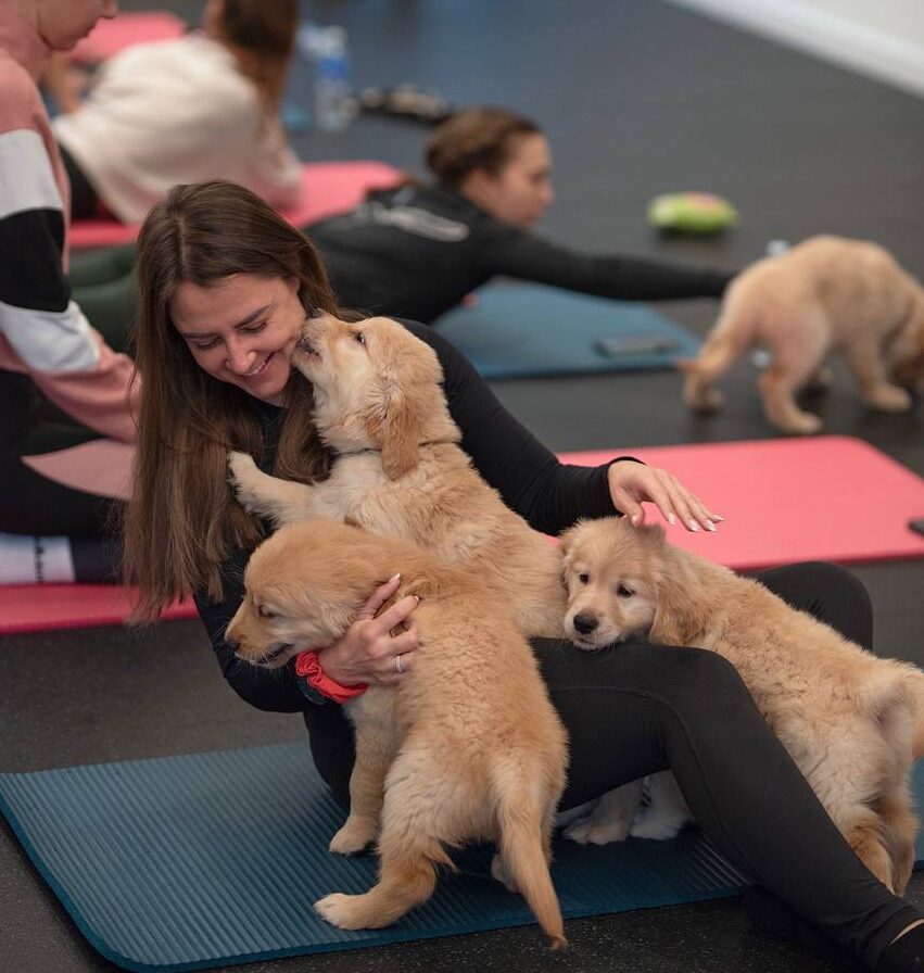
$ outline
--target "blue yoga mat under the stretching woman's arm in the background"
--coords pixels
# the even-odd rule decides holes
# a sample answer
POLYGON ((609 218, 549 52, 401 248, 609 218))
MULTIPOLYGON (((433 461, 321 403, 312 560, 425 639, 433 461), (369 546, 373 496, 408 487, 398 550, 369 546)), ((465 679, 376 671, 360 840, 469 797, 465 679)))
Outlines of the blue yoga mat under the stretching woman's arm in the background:
POLYGON ((644 304, 533 283, 494 285, 436 318, 485 377, 673 368, 699 340, 644 304))

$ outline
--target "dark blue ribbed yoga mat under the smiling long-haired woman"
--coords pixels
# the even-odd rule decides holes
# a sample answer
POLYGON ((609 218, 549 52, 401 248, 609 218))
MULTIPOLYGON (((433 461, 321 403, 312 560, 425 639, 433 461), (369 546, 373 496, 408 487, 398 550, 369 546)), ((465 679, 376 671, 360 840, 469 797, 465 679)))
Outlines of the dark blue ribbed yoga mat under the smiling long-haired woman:
MULTIPOLYGON (((915 784, 924 794, 924 773, 915 784)), ((343 812, 299 744, 0 774, 0 808, 80 932, 128 970, 198 970, 534 921, 491 879, 493 850, 478 846, 391 928, 322 922, 312 904, 364 892, 376 860, 327 850, 343 812)), ((599 848, 559 839, 553 879, 566 918, 720 898, 746 884, 695 827, 671 842, 599 848)), ((543 942, 536 927, 536 949, 543 942)))

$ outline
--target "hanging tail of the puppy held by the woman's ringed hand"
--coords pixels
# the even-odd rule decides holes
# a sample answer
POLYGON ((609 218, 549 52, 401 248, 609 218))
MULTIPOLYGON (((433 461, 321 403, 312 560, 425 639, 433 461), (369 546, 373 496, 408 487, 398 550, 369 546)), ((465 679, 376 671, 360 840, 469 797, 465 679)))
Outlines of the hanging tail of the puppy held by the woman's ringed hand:
POLYGON ((558 896, 548 874, 545 845, 547 833, 544 832, 543 824, 547 813, 545 800, 528 778, 503 772, 498 776, 501 855, 517 887, 548 936, 549 945, 553 949, 560 949, 568 945, 568 940, 565 938, 558 896))

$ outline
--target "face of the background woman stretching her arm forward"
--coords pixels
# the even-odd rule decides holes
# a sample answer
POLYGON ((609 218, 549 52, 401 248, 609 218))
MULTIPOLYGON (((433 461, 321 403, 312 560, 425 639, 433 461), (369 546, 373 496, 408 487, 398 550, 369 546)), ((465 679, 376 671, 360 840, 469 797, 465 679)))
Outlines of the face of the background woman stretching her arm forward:
POLYGON ((545 136, 520 136, 498 173, 469 174, 463 191, 495 219, 531 229, 555 199, 552 152, 545 136))

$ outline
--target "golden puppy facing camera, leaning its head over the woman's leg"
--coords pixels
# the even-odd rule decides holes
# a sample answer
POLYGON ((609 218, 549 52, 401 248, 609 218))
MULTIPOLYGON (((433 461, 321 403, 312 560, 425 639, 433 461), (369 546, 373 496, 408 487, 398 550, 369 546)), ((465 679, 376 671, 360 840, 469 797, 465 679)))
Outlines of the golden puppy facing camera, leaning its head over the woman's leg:
POLYGON ((729 659, 851 847, 901 894, 917 829, 908 776, 921 743, 924 674, 848 642, 759 582, 668 544, 659 526, 583 521, 562 546, 574 645, 647 636, 729 659))

